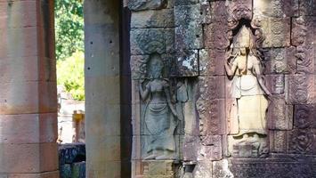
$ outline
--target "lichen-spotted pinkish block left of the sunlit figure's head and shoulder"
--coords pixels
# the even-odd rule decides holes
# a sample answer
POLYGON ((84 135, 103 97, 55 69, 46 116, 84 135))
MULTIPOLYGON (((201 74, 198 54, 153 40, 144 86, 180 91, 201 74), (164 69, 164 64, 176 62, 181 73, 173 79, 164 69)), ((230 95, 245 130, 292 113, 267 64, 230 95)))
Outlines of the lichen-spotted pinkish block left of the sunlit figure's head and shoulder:
POLYGON ((199 75, 223 76, 225 53, 217 50, 202 49, 199 51, 199 75))

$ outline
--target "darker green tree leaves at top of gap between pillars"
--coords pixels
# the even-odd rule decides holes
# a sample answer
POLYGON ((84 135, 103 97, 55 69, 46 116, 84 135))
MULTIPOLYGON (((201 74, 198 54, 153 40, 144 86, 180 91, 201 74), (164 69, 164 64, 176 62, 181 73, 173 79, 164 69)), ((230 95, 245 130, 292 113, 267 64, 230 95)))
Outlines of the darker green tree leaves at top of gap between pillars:
POLYGON ((84 51, 84 12, 81 0, 55 1, 56 59, 84 51))

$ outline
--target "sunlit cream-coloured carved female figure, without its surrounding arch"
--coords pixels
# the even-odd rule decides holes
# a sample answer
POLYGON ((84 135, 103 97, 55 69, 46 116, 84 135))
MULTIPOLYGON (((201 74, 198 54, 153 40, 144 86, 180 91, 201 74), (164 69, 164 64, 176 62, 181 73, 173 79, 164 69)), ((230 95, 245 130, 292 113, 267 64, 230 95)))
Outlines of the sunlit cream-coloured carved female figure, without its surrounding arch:
POLYGON ((267 96, 271 93, 263 82, 263 59, 257 55, 255 37, 251 28, 240 24, 224 65, 232 79, 231 96, 235 99, 231 106, 231 119, 235 121, 230 126, 234 145, 260 144, 260 137, 267 134, 267 96))

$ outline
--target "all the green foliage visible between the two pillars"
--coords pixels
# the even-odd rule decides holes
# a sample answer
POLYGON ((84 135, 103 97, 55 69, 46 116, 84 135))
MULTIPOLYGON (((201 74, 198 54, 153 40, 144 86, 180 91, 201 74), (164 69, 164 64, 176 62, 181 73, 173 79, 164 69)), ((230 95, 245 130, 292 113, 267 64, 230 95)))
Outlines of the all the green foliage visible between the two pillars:
POLYGON ((57 84, 85 100, 84 12, 82 0, 55 1, 57 84))

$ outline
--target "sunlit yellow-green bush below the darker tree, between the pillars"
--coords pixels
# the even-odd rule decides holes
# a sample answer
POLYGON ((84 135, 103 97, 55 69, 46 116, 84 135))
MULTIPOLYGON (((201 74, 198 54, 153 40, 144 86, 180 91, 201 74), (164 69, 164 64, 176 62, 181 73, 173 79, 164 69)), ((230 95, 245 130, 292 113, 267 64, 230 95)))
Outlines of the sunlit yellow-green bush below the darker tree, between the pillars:
POLYGON ((85 54, 73 53, 63 61, 57 61, 57 84, 63 85, 77 101, 85 100, 85 54))

